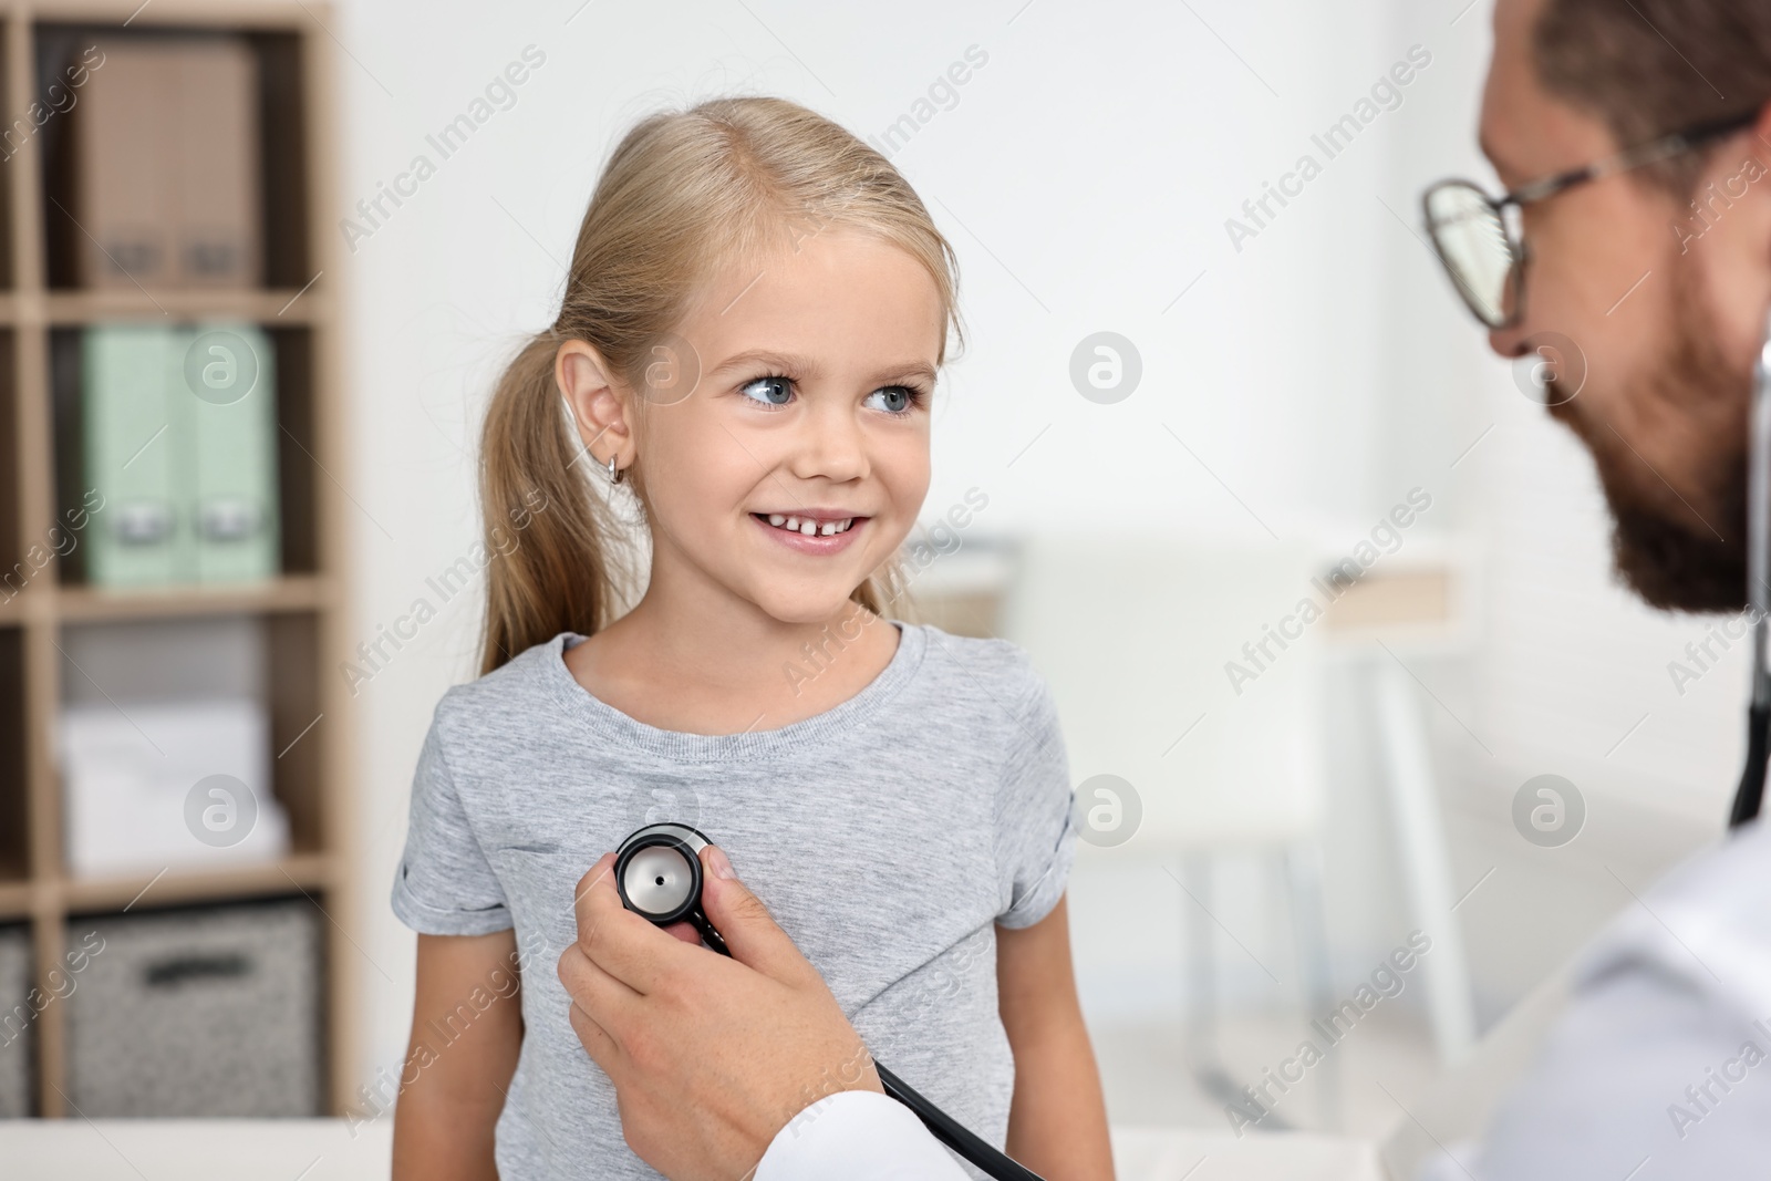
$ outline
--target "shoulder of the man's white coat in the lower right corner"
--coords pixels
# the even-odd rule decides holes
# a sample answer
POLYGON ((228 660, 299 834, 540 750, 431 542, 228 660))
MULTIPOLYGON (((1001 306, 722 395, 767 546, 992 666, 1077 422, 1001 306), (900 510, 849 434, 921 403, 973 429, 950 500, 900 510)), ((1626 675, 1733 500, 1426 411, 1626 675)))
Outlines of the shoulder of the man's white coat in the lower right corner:
POLYGON ((1764 822, 1643 891, 1601 933, 1537 1061, 1481 1144, 1452 1156, 1422 1181, 1771 1176, 1764 822))

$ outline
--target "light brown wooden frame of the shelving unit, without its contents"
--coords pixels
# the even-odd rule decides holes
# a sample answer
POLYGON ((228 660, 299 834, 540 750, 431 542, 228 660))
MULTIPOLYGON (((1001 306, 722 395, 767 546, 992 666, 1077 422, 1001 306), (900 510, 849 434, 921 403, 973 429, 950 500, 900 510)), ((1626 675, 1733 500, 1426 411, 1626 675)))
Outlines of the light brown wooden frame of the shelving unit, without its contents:
MULTIPOLYGON (((37 42, 46 34, 243 34, 260 67, 264 274, 260 290, 80 290, 58 260, 67 216, 46 184, 43 136, 0 159, 0 574, 18 574, 46 547, 69 506, 67 439, 58 437, 57 338, 87 324, 179 324, 237 319, 278 343, 282 570, 273 581, 117 593, 81 584, 78 549, 0 590, 0 924, 28 922, 39 988, 62 963, 69 919, 184 903, 306 896, 326 914, 326 1107, 342 1112, 352 1085, 354 981, 361 953, 349 933, 349 694, 338 664, 345 620, 349 524, 344 478, 340 347, 335 305, 336 140, 331 135, 333 42, 322 4, 197 0, 0 0, 0 133, 37 99, 37 42), (60 235, 60 237, 58 237, 60 235), (292 852, 262 866, 74 878, 64 868, 62 791, 55 758, 69 629, 159 620, 259 620, 266 637, 275 793, 289 813, 292 852)), ((57 113, 55 119, 64 115, 57 113)), ((27 117, 28 119, 28 117, 27 117)), ((4 154, 4 152, 0 152, 4 154)), ((66 202, 62 202, 66 204, 66 202)), ((78 476, 76 476, 78 482, 78 476)), ((34 1022, 35 1101, 71 1115, 62 1002, 34 1022)))

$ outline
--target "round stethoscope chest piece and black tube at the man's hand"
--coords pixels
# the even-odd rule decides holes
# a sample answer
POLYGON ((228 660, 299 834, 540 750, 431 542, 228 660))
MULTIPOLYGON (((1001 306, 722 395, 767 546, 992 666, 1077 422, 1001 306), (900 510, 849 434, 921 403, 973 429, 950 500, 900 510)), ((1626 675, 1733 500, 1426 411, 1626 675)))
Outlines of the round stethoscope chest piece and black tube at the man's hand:
MULTIPOLYGON (((730 956, 726 940, 701 910, 701 850, 712 845, 689 825, 655 823, 639 829, 615 853, 615 889, 622 905, 657 926, 689 922, 708 947, 730 956)), ((937 1140, 999 1181, 1043 1181, 1006 1153, 978 1139, 963 1124, 912 1091, 898 1075, 873 1062, 886 1094, 909 1107, 937 1140)))

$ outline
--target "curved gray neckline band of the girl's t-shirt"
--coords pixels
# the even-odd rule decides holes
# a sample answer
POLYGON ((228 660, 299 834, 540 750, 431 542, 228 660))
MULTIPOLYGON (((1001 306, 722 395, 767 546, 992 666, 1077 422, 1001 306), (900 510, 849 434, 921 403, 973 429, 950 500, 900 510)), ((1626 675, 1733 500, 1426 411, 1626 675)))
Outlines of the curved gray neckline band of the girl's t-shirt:
POLYGON ((565 664, 567 650, 588 639, 577 632, 554 636, 542 652, 542 662, 554 699, 599 738, 682 761, 753 760, 802 749, 808 744, 822 745, 864 726, 916 676, 928 648, 924 629, 898 620, 887 620, 887 623, 898 629, 898 650, 878 676, 862 685, 861 692, 824 714, 813 714, 776 729, 751 729, 737 735, 659 729, 597 698, 572 676, 572 669, 565 664))

